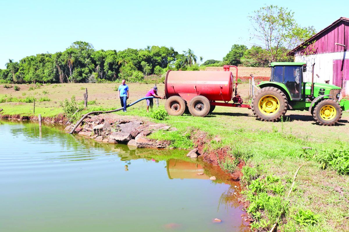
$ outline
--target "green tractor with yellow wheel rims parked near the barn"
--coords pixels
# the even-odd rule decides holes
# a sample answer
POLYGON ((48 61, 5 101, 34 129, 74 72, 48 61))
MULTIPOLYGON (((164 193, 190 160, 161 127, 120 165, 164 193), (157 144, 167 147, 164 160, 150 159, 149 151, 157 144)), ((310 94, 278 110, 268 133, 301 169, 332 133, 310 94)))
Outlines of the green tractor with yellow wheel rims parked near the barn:
POLYGON ((349 101, 340 98, 341 88, 334 85, 303 82, 306 63, 273 62, 270 81, 258 84, 252 98, 253 114, 262 121, 278 121, 287 110, 309 110, 319 125, 333 126, 349 109, 349 101))

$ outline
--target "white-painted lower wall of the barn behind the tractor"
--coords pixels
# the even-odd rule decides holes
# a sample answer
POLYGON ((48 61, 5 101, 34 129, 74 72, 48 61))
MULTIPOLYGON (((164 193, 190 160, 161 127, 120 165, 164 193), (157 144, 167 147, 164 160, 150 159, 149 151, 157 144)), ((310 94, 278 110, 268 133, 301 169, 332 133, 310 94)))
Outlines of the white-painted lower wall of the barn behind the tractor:
POLYGON ((303 73, 303 81, 311 82, 311 65, 315 62, 314 67, 314 82, 325 83, 325 81, 329 80, 329 83, 332 84, 333 77, 333 60, 334 59, 343 59, 348 58, 346 52, 338 52, 338 53, 324 53, 317 55, 308 55, 308 56, 295 56, 295 62, 306 62, 307 71, 303 73), (317 77, 318 74, 320 78, 317 77))

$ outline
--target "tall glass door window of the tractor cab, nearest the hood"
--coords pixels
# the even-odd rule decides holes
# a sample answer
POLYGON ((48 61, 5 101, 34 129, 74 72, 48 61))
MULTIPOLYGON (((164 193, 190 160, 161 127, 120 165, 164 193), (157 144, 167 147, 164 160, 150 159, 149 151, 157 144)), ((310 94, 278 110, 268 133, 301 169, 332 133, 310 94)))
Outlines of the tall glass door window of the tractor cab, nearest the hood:
POLYGON ((292 98, 299 98, 300 72, 299 66, 285 66, 284 84, 290 91, 292 98))

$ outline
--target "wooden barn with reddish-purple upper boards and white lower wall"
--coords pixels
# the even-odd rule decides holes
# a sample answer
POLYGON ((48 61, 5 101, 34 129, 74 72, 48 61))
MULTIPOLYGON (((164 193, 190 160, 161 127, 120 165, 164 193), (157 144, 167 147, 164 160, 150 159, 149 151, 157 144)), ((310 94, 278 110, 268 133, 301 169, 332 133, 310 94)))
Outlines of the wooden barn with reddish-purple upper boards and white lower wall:
POLYGON ((314 66, 314 82, 342 87, 342 97, 349 96, 349 18, 341 17, 324 30, 294 48, 290 54, 295 62, 306 62, 304 81, 311 81, 314 66), (319 77, 317 77, 317 75, 319 77))

